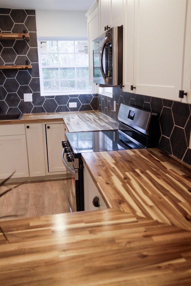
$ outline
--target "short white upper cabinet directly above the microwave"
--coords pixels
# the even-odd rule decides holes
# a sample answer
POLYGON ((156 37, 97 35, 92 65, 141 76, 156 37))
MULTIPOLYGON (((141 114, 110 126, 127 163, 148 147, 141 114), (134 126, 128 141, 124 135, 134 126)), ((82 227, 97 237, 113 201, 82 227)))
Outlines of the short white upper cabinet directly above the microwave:
POLYGON ((123 24, 123 0, 99 0, 99 35, 123 24))

